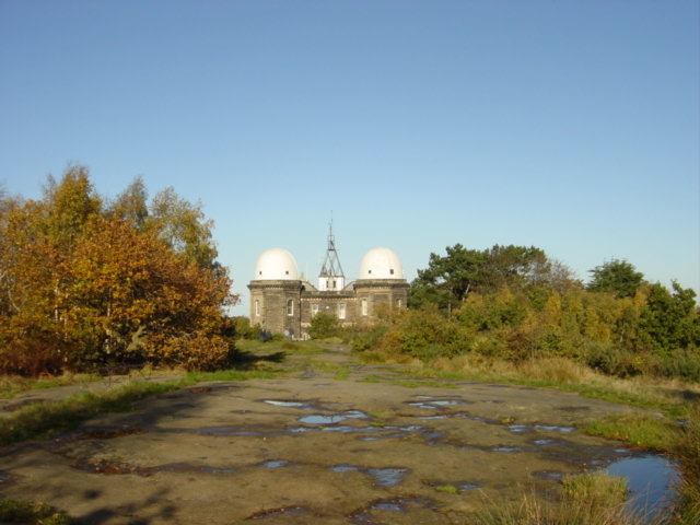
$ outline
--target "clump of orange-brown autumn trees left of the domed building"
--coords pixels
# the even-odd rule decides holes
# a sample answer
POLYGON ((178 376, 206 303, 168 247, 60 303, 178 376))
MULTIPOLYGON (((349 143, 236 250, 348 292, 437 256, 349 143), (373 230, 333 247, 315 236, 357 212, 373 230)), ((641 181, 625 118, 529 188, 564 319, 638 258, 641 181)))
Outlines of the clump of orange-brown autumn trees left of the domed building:
POLYGON ((137 178, 108 200, 74 166, 40 200, 0 194, 2 373, 224 366, 230 285, 211 223, 172 188, 149 202, 137 178))

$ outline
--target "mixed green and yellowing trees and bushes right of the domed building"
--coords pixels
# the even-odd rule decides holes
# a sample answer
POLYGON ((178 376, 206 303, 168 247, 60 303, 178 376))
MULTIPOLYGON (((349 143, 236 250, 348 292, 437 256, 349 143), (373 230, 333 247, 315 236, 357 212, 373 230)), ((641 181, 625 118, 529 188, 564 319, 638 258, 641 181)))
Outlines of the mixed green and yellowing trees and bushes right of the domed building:
POLYGON ((430 255, 410 306, 354 338, 355 350, 423 361, 472 352, 512 361, 564 357, 607 374, 700 381, 696 293, 648 282, 612 259, 584 284, 536 247, 430 255))

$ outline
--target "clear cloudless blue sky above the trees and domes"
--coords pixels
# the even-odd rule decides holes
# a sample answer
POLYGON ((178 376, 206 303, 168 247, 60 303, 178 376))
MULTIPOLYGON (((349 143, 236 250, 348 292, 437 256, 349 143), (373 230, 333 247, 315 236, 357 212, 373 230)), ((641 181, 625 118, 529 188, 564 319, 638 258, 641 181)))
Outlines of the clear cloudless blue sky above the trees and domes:
POLYGON ((697 0, 0 0, 0 180, 88 165, 215 221, 247 313, 258 255, 315 279, 462 243, 611 258, 700 290, 697 0))

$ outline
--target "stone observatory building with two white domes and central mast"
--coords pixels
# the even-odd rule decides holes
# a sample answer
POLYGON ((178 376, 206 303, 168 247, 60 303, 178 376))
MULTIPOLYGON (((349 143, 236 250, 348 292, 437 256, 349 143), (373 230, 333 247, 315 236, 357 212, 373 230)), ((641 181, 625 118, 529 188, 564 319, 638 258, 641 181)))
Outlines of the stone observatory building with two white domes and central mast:
POLYGON ((300 277, 292 254, 272 248, 258 258, 248 289, 250 324, 300 339, 307 337, 316 314, 335 316, 343 326, 371 324, 383 311, 406 307, 408 300, 401 261, 389 248, 368 252, 358 280, 346 283, 332 226, 316 287, 300 277))

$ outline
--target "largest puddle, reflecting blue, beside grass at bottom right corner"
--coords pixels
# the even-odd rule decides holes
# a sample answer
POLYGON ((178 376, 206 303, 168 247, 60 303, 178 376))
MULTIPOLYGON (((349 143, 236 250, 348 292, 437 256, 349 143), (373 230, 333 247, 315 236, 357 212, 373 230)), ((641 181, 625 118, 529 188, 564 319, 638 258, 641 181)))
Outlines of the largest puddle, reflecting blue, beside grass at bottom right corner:
POLYGON ((631 505, 642 514, 668 509, 673 503, 673 488, 680 479, 673 462, 653 454, 620 459, 606 470, 611 476, 627 478, 631 505))

